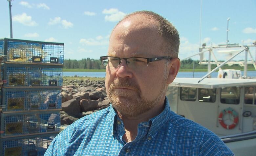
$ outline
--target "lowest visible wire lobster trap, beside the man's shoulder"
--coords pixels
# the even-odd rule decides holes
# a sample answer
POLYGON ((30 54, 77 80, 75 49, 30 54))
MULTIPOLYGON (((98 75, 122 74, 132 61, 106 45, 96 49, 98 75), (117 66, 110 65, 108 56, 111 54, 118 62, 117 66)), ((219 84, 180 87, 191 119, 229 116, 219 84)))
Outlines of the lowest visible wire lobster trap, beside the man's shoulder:
POLYGON ((0 142, 0 155, 3 156, 43 156, 56 133, 39 136, 3 139, 0 142))

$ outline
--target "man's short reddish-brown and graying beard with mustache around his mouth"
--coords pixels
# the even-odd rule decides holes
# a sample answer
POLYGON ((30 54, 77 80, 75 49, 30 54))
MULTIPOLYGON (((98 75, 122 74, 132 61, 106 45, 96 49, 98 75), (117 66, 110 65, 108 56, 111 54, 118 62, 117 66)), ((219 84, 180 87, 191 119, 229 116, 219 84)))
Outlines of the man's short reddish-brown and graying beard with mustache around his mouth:
MULTIPOLYGON (((165 77, 164 77, 165 78, 165 77)), ((166 79, 162 84, 162 89, 159 95, 152 101, 142 97, 141 91, 136 83, 132 82, 129 78, 116 78, 111 82, 108 90, 108 98, 112 103, 113 108, 118 111, 122 116, 136 117, 142 113, 151 110, 156 106, 159 101, 165 96, 166 79), (125 93, 118 93, 115 91, 118 87, 129 87, 136 91, 133 96, 125 93)))

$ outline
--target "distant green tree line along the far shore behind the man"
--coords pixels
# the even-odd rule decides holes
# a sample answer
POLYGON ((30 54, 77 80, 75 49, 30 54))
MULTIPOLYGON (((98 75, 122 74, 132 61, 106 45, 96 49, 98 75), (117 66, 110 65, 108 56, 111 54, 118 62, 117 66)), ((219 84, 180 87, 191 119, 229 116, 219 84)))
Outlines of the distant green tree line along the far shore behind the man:
MULTIPOLYGON (((193 64, 195 69, 207 69, 207 65, 200 65, 199 60, 187 59, 181 61, 181 69, 193 69, 193 64)), ((82 59, 82 60, 64 60, 64 68, 66 69, 105 69, 101 61, 94 59, 82 59)), ((211 68, 215 68, 217 65, 211 65, 211 68)), ((243 67, 238 64, 232 66, 224 65, 224 69, 243 69, 243 67)), ((252 64, 248 64, 248 68, 253 68, 252 64)))

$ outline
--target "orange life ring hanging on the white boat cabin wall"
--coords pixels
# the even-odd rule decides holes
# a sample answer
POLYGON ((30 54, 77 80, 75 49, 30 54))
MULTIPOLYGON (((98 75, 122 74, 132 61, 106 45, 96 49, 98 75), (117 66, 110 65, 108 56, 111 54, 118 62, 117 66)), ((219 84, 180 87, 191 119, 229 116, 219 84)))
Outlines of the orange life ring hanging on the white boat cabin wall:
POLYGON ((238 114, 236 113, 236 111, 234 111, 230 107, 221 111, 218 119, 219 119, 219 123, 221 124, 221 126, 227 130, 231 130, 231 129, 235 128, 239 121, 238 114), (223 121, 223 116, 227 113, 231 114, 234 117, 233 123, 230 125, 226 125, 223 121))

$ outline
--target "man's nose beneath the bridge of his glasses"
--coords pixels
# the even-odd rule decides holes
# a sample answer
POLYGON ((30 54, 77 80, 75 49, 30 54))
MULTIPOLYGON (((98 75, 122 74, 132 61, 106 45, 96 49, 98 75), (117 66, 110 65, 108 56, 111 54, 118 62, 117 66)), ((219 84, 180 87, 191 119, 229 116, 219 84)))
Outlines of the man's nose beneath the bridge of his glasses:
POLYGON ((116 76, 120 78, 132 78, 133 73, 131 68, 128 67, 126 60, 121 60, 121 63, 117 68, 116 76))

